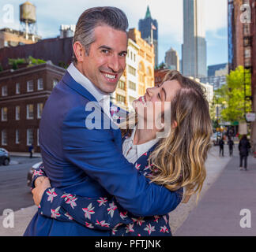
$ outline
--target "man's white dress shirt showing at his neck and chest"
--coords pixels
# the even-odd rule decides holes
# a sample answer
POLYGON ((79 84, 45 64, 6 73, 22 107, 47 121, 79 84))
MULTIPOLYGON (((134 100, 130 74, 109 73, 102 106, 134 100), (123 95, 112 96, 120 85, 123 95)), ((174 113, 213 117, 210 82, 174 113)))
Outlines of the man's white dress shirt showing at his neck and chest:
POLYGON ((110 95, 105 94, 104 92, 100 91, 95 85, 92 84, 88 78, 86 78, 74 65, 71 63, 69 67, 66 69, 67 72, 70 73, 70 76, 75 80, 77 83, 81 84, 82 87, 96 98, 96 101, 100 103, 100 106, 104 109, 104 113, 107 114, 108 117, 110 116, 110 95))

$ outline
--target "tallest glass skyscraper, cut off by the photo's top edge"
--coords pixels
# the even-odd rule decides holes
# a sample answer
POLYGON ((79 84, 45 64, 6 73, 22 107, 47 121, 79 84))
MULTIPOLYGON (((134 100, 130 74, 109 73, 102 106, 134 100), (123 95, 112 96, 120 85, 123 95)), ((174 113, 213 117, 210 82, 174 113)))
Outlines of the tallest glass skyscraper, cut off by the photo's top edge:
POLYGON ((183 74, 207 76, 205 0, 183 0, 183 74))

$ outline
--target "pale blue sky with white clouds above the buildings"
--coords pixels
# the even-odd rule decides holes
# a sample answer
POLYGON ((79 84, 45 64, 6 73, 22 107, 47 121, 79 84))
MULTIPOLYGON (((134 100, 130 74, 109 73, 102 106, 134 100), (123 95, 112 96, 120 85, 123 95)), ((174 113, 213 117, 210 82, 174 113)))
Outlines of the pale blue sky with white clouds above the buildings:
MULTIPOLYGON (((25 1, 2 0, 0 3, 0 28, 20 28, 19 5, 25 1), (13 22, 3 22, 6 5, 13 6, 13 22)), ((147 5, 153 19, 158 21, 159 63, 164 61, 170 47, 181 57, 183 43, 183 0, 30 0, 36 6, 37 31, 43 39, 59 35, 60 24, 76 24, 83 10, 92 6, 116 6, 129 20, 130 28, 137 28, 138 20, 145 17, 147 5)), ((207 64, 228 61, 227 0, 205 0, 205 31, 207 64)))

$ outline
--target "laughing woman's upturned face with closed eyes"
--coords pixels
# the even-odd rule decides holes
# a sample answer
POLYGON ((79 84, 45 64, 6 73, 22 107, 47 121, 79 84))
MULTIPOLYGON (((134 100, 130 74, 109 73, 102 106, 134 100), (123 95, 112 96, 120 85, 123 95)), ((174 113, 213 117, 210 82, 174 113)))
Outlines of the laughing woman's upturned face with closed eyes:
POLYGON ((143 118, 149 127, 164 111, 169 111, 171 100, 180 88, 177 80, 167 80, 159 86, 147 88, 145 95, 133 102, 138 118, 143 118))

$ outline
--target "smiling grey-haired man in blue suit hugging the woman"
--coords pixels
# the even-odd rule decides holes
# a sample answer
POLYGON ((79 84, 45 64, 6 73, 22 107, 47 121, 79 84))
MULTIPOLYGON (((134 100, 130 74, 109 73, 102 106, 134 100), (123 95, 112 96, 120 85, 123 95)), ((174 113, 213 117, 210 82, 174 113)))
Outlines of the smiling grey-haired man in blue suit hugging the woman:
MULTIPOLYGON (((41 154, 52 187, 89 198, 115 195, 130 213, 161 215, 175 209, 180 195, 149 183, 123 157, 120 130, 103 125, 106 118, 111 120, 109 95, 126 67, 127 28, 126 15, 115 7, 87 9, 81 14, 73 37, 74 62, 43 109, 41 154), (90 102, 95 102, 93 112, 88 109, 90 102), (89 128, 89 124, 96 127, 89 128)), ((51 191, 49 200, 55 195, 51 191)), ((39 208, 24 235, 111 233, 44 217, 39 208)))

